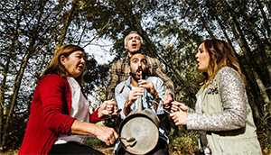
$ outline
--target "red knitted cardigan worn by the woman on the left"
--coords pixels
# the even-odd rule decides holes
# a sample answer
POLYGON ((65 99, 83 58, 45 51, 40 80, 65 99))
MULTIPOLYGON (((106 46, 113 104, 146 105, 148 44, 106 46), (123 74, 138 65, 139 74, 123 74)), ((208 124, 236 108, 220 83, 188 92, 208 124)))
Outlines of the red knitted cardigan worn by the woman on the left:
MULTIPOLYGON (((35 88, 31 113, 19 155, 48 154, 59 134, 69 134, 75 118, 70 117, 71 92, 68 81, 52 74, 35 88)), ((97 123, 98 110, 90 115, 97 123)))

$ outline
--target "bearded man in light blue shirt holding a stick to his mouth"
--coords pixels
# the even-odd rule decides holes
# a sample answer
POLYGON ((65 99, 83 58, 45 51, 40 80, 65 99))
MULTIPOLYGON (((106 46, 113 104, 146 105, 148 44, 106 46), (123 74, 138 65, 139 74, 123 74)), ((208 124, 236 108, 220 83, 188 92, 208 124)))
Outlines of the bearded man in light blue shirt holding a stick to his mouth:
MULTIPOLYGON (((144 108, 148 107, 157 114, 160 120, 163 120, 163 105, 161 98, 164 98, 164 82, 160 78, 147 77, 147 61, 141 53, 135 53, 129 60, 128 71, 129 78, 119 83, 116 87, 116 101, 118 108, 123 109, 120 113, 121 119, 125 119, 131 111, 136 108, 136 100, 141 99, 144 108), (121 93, 119 93, 121 92, 121 93)), ((163 123, 159 127, 159 140, 154 148, 148 154, 164 155, 168 154, 168 138, 162 128, 163 123)), ((130 154, 124 149, 122 143, 117 141, 115 147, 117 155, 130 154)))

